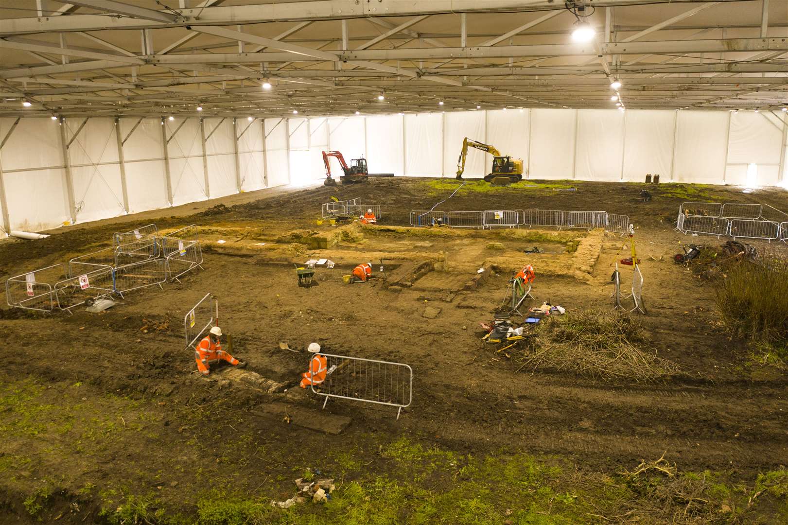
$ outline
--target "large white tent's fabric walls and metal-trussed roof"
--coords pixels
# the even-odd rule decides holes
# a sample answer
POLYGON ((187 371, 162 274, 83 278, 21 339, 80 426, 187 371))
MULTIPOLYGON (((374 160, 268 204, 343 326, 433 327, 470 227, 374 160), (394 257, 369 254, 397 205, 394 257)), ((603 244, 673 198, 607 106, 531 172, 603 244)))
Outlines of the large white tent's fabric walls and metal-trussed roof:
POLYGON ((531 179, 788 186, 788 2, 170 3, 2 2, 0 236, 314 184, 324 150, 454 177, 465 136, 531 179))

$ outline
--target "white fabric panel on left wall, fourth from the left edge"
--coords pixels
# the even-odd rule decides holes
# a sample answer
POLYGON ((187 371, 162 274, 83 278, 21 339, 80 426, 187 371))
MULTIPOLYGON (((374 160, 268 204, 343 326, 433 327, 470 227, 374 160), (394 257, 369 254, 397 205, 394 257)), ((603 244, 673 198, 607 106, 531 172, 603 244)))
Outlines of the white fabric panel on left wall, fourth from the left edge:
POLYGON ((165 121, 169 150, 169 173, 173 184, 173 204, 191 203, 206 199, 205 170, 203 169, 203 140, 199 119, 188 118, 178 132, 173 132, 184 119, 165 121))

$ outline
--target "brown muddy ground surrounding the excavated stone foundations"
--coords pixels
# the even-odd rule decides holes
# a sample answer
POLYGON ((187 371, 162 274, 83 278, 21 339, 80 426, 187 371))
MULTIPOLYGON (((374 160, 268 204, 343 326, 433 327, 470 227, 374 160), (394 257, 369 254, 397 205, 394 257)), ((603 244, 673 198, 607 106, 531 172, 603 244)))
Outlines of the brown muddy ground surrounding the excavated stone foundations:
MULTIPOLYGON (((638 198, 640 189, 640 184, 577 182, 461 190, 439 209, 606 210, 629 215, 637 225, 649 309, 638 318, 653 351, 682 367, 682 374, 651 385, 515 371, 516 363, 481 343, 478 328, 504 296, 508 276, 503 270, 474 291, 463 287, 475 271, 465 266, 452 270, 451 265, 448 272, 433 271, 397 291, 382 280, 345 285, 342 274, 364 262, 366 250, 385 250, 386 237, 368 233, 362 242, 337 245, 335 250, 346 255, 337 261, 342 267, 320 270, 318 285, 303 289, 296 285, 291 264, 264 254, 229 255, 213 242, 222 229, 254 229, 246 239, 251 244, 276 244, 292 229, 330 232, 332 226, 318 226, 315 219, 320 204, 332 195, 379 203, 385 210, 382 223, 407 225, 409 210, 427 210, 452 192, 443 183, 381 179, 273 196, 263 191, 251 202, 219 205, 191 216, 160 211, 153 221, 160 229, 197 224, 220 232, 206 242, 203 270, 163 290, 130 293, 101 315, 81 309, 74 315, 0 311, 6 341, 0 369, 5 406, 0 408, 4 417, 13 419, 13 424, 0 423, 0 522, 33 520, 24 500, 42 480, 58 492, 38 516, 46 522, 59 514, 55 523, 99 521, 106 501, 145 490, 180 501, 184 512, 190 512, 188 502, 206 485, 286 498, 303 468, 330 471, 328 458, 340 453, 356 451, 369 462, 368 468, 382 468, 374 453, 363 451, 402 436, 463 454, 560 456, 578 468, 610 473, 663 452, 682 469, 724 471, 733 478, 784 468, 788 377, 749 366, 745 343, 731 339, 719 326, 712 286, 671 262, 682 243, 719 241, 676 233, 671 221, 686 200, 768 203, 786 209, 788 193, 774 189, 742 194, 736 188, 661 184, 649 187, 653 199, 644 203, 638 198), (577 191, 567 191, 567 186, 577 191), (193 374, 193 353, 184 351, 183 318, 206 292, 218 298, 221 325, 232 334, 232 353, 247 361, 247 370, 292 387, 306 370, 303 348, 318 341, 327 352, 410 364, 411 406, 396 420, 396 410, 390 408, 329 400, 326 411, 351 418, 340 435, 261 417, 261 408, 272 403, 289 404, 294 411, 319 409, 322 398, 297 388, 264 394, 193 374), (426 307, 440 313, 426 318, 426 307), (299 352, 281 350, 281 341, 299 352), (75 512, 69 505, 82 506, 75 512)), ((5 281, 103 248, 113 232, 147 222, 151 220, 113 219, 54 230, 46 240, 5 241, 0 244, 0 278, 5 281)), ((392 233, 394 248, 389 249, 392 259, 397 249, 409 248, 440 252, 475 268, 475 259, 482 266, 485 259, 500 256, 486 246, 494 235, 444 246, 392 233), (397 243, 403 245, 396 248, 397 243)), ((625 241, 605 235, 585 279, 540 275, 533 263, 537 301, 567 307, 569 315, 611 307, 608 281, 615 261, 627 255, 625 241)), ((559 257, 565 251, 563 244, 540 242, 533 244, 548 252, 541 257, 559 257)), ((526 244, 507 244, 506 250, 522 250, 526 244)), ((784 245, 756 244, 761 250, 786 251, 784 245)), ((303 251, 320 254, 314 248, 303 251)), ((519 256, 515 266, 540 260, 522 252, 519 256)), ((306 260, 300 253, 294 259, 306 260)), ((625 287, 630 271, 623 270, 625 287)))

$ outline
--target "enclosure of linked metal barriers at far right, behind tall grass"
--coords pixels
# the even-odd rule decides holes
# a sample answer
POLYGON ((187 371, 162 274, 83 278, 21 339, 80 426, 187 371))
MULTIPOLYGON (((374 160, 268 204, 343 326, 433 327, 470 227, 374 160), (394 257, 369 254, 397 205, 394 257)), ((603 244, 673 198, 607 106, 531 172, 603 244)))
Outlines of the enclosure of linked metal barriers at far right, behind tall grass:
POLYGON ((682 233, 788 240, 788 214, 768 204, 682 203, 676 229, 682 233))

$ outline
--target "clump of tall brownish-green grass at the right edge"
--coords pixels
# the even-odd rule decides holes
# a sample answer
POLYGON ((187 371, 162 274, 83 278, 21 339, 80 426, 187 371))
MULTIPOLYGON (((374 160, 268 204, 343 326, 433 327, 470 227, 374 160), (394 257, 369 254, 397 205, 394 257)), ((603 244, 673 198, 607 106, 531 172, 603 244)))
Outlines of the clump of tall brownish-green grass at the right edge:
POLYGON ((729 259, 716 281, 716 306, 724 326, 749 340, 753 359, 788 365, 788 260, 729 259))

